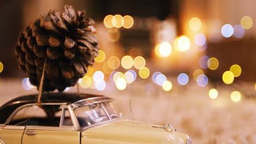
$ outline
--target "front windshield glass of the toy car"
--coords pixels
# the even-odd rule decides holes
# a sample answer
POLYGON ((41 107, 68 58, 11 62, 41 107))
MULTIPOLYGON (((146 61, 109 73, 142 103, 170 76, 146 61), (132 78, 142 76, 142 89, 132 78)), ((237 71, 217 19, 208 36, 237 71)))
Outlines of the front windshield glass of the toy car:
POLYGON ((109 120, 107 113, 104 112, 100 103, 79 107, 74 109, 74 113, 80 127, 86 127, 109 120))

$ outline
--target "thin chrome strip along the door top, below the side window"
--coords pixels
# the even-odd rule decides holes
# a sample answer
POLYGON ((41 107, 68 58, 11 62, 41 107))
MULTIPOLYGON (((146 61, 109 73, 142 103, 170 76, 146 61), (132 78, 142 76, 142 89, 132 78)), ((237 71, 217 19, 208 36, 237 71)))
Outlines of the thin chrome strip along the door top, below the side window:
POLYGON ((74 127, 42 127, 42 126, 26 126, 26 130, 55 130, 55 131, 75 131, 74 127))

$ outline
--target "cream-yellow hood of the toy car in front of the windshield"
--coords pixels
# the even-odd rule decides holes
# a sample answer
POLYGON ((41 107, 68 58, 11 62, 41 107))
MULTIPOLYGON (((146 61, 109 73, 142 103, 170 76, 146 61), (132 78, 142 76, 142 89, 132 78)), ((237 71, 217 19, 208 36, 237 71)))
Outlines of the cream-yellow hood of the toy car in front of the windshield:
POLYGON ((150 124, 118 120, 89 128, 82 143, 186 143, 187 135, 152 127, 150 124))

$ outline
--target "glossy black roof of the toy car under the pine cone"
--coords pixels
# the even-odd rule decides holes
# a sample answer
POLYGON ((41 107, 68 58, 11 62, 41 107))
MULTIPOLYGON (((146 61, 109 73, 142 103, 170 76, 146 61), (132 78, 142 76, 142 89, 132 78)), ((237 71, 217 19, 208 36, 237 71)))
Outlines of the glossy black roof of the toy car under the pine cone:
MULTIPOLYGON (((35 104, 38 94, 25 95, 8 101, 0 107, 0 124, 5 123, 8 117, 18 107, 26 104, 35 104)), ((84 94, 84 93, 44 93, 41 97, 42 103, 75 103, 79 100, 84 100, 94 97, 103 97, 103 95, 84 94)))

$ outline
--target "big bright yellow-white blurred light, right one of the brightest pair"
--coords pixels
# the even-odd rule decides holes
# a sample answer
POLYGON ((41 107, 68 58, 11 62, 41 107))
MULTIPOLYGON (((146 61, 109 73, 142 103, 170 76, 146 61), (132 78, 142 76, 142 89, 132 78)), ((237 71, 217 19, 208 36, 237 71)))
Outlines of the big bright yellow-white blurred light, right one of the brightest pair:
POLYGON ((182 35, 174 40, 174 46, 178 51, 188 51, 190 48, 190 40, 186 35, 182 35))

